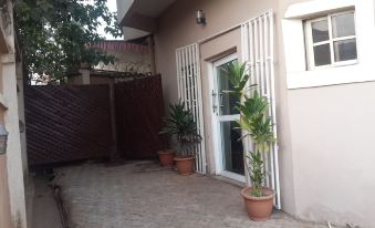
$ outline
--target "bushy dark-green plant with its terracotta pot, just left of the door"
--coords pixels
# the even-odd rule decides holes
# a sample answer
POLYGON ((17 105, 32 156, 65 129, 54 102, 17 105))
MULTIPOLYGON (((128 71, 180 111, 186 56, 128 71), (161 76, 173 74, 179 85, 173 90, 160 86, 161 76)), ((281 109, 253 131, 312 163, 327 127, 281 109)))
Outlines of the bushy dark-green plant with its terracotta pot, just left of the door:
POLYGON ((176 136, 179 148, 177 149, 176 168, 180 175, 194 173, 195 146, 201 137, 197 133, 197 124, 192 112, 185 107, 185 103, 169 104, 169 115, 165 118, 165 127, 162 133, 176 136))

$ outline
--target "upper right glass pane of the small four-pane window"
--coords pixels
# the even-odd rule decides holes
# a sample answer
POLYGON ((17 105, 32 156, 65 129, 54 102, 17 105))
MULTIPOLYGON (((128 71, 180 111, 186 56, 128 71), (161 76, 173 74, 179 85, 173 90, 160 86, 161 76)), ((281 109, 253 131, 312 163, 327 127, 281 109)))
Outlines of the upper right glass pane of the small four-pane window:
POLYGON ((332 17, 333 38, 355 35, 354 13, 345 13, 332 17))

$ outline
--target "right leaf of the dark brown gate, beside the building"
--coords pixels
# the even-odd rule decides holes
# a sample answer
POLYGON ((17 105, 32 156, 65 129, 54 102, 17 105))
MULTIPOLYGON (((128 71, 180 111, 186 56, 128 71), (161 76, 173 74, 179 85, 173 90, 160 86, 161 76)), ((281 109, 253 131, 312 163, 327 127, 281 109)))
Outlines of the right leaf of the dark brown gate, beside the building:
POLYGON ((164 115, 160 76, 115 84, 118 149, 127 158, 146 158, 165 147, 158 133, 164 115))

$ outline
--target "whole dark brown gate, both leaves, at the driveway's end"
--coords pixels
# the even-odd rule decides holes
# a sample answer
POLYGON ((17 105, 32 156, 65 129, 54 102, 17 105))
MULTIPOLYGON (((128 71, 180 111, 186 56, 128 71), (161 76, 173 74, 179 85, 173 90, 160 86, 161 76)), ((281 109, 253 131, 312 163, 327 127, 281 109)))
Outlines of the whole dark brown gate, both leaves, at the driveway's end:
MULTIPOLYGON (((160 76, 114 89, 118 153, 129 158, 155 156, 165 146, 158 135, 164 115, 160 76)), ((27 86, 24 92, 30 166, 111 156, 108 84, 27 86)))

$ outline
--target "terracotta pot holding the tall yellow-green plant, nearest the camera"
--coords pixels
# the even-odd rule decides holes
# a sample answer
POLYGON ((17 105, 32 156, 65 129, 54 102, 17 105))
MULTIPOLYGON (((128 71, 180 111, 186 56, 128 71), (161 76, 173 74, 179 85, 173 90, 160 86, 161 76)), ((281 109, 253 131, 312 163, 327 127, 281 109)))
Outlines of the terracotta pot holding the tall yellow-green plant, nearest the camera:
POLYGON ((250 195, 251 189, 251 187, 247 187, 241 190, 249 218, 254 221, 264 221, 272 214, 274 191, 263 187, 263 196, 254 197, 250 195))

